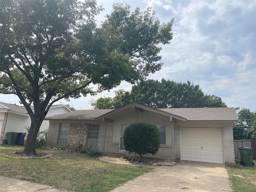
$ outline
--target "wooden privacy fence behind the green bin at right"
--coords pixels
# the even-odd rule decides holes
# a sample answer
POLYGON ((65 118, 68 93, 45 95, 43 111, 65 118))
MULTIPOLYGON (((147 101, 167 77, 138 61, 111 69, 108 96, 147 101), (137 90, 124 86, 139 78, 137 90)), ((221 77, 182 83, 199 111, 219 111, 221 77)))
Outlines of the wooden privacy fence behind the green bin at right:
POLYGON ((234 140, 234 150, 236 159, 241 159, 238 147, 251 147, 253 148, 252 159, 256 160, 256 140, 234 140))

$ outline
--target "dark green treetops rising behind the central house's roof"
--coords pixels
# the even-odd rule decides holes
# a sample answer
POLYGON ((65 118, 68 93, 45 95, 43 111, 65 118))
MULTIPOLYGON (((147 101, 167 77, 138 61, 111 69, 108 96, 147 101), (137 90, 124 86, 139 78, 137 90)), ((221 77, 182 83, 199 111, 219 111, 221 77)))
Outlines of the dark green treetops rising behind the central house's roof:
POLYGON ((99 98, 92 102, 96 109, 121 107, 129 102, 138 102, 153 108, 202 108, 227 107, 218 96, 204 95, 199 85, 162 79, 145 80, 132 86, 131 92, 119 90, 114 98, 99 98))

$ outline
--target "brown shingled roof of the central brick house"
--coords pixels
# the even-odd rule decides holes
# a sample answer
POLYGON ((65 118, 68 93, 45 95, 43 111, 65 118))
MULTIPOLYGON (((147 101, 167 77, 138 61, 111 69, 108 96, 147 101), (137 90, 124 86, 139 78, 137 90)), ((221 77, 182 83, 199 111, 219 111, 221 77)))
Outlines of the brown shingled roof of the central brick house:
MULTIPOLYGON (((132 102, 130 104, 137 104, 132 102)), ((139 104, 141 105, 141 104, 139 104)), ((128 106, 128 105, 125 105, 128 106)), ((124 106, 123 106, 124 107, 124 106)), ((98 120, 101 116, 105 114, 124 115, 122 108, 120 107, 116 110, 113 109, 94 109, 94 110, 77 110, 74 112, 69 112, 65 114, 55 115, 47 117, 45 119, 66 119, 66 120, 98 120)), ((148 106, 147 106, 148 107, 148 106)), ((147 109, 147 108, 145 108, 147 109)), ((123 109, 123 111, 128 110, 128 108, 123 109)), ((166 114, 174 115, 176 117, 181 117, 189 121, 237 121, 236 110, 234 108, 168 108, 168 109, 158 109, 158 111, 165 112, 166 114)), ((108 116, 107 116, 108 117, 108 116)))

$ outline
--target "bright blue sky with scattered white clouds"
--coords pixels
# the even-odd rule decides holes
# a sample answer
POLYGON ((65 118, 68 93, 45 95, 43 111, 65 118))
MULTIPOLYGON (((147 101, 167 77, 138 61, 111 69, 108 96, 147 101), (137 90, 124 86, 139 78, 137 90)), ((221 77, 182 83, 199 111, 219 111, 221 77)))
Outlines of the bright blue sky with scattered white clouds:
MULTIPOLYGON (((104 11, 98 25, 110 14, 114 2, 97 0, 104 11)), ((148 79, 162 78, 198 84, 204 94, 222 98, 228 107, 256 110, 256 1, 255 0, 126 0, 134 10, 152 7, 161 22, 175 18, 173 39, 162 46, 162 69, 148 79)), ((91 100, 113 97, 114 91, 130 91, 122 82, 110 92, 56 104, 70 104, 77 110, 92 109, 91 100)), ((14 95, 0 95, 2 102, 19 104, 14 95)))

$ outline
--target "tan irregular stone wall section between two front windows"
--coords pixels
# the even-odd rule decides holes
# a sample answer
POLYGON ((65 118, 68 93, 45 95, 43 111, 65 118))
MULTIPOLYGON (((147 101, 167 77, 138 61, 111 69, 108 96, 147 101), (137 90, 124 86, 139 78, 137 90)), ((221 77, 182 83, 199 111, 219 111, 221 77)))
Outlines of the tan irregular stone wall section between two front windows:
POLYGON ((88 124, 70 123, 67 147, 84 150, 88 133, 88 124), (80 147, 80 148, 79 148, 80 147))

